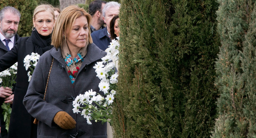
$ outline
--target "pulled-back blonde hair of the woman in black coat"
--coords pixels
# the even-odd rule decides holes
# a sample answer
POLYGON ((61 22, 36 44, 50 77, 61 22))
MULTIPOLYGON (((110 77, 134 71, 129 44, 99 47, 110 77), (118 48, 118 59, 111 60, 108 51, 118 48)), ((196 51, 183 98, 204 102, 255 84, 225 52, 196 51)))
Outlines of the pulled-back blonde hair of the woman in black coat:
POLYGON ((37 6, 34 10, 33 20, 36 20, 36 14, 38 14, 39 12, 44 12, 44 11, 47 11, 50 14, 52 14, 53 20, 55 20, 53 6, 50 4, 41 4, 41 5, 37 6))

